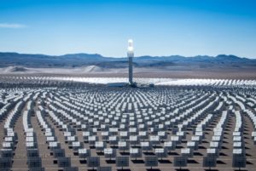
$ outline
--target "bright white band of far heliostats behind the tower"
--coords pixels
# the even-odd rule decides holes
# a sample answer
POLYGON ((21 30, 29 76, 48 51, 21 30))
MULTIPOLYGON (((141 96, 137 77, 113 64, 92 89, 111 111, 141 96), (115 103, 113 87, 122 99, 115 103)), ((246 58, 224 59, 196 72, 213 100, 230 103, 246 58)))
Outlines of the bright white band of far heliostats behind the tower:
MULTIPOLYGON (((54 81, 74 82, 74 83, 128 83, 126 77, 31 77, 31 76, 3 76, 0 77, 2 83, 49 83, 54 81)), ((1 83, 0 82, 0 83, 1 83)), ((256 80, 243 79, 205 79, 205 78, 144 78, 136 77, 137 83, 154 83, 155 85, 200 85, 200 86, 255 86, 256 80)))

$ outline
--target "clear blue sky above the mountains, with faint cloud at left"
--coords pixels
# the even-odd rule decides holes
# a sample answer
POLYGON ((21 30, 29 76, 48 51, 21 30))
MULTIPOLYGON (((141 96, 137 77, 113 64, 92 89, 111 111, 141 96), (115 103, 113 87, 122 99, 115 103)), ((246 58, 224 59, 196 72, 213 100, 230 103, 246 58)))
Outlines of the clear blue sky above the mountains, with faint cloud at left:
POLYGON ((254 0, 0 0, 0 51, 256 58, 254 0))

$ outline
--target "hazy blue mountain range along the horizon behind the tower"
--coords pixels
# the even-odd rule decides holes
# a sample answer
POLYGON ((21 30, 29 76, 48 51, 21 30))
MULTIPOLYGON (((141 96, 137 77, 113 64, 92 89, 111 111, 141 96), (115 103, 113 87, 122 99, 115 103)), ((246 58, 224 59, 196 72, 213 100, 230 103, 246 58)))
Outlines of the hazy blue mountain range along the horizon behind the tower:
MULTIPOLYGON (((97 66, 101 68, 125 68, 127 58, 103 57, 101 54, 65 54, 60 56, 44 54, 0 53, 0 67, 22 66, 28 68, 76 68, 97 66)), ((219 54, 216 57, 198 55, 184 57, 171 56, 139 56, 134 58, 135 67, 172 67, 195 66, 206 67, 250 67, 256 68, 256 60, 241 58, 235 55, 219 54)))

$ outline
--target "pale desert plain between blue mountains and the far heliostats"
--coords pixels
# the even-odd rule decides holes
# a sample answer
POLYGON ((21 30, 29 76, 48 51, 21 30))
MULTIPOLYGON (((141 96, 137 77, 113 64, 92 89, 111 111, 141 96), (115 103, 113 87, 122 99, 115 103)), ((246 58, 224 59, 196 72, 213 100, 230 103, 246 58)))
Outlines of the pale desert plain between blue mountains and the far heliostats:
MULTIPOLYGON (((127 68, 104 70, 97 66, 82 68, 0 68, 0 75, 63 76, 63 77, 127 77, 127 68)), ((256 79, 256 68, 134 68, 134 77, 256 79)))

